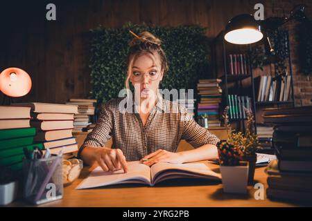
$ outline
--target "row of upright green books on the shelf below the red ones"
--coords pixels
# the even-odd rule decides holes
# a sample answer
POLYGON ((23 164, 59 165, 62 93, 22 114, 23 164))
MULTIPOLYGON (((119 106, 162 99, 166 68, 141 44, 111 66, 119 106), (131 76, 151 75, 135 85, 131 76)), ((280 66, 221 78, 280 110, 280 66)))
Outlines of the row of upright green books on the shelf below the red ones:
POLYGON ((248 96, 227 95, 229 100, 229 119, 246 119, 245 108, 252 108, 251 98, 248 96))

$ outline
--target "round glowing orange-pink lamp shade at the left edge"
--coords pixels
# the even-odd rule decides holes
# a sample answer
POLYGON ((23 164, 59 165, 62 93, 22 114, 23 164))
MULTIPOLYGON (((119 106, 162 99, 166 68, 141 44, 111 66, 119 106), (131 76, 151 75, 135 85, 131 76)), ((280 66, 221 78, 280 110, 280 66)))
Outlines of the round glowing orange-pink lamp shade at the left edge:
POLYGON ((31 90, 31 77, 20 68, 7 68, 0 74, 0 90, 10 97, 21 97, 31 90))

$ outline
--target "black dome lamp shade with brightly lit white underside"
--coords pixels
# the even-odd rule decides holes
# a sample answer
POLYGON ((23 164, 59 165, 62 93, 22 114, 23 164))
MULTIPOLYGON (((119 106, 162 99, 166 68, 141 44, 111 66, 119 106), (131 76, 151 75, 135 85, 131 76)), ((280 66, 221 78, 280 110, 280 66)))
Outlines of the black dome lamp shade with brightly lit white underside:
POLYGON ((225 40, 232 44, 252 44, 263 38, 261 26, 252 15, 232 18, 225 28, 225 40))

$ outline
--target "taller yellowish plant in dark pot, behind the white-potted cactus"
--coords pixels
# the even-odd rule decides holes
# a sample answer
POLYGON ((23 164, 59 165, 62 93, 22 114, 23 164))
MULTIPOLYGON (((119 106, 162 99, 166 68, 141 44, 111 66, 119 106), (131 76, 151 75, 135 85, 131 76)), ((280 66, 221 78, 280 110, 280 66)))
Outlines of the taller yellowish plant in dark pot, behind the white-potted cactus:
POLYGON ((225 120, 225 128, 227 129, 227 143, 231 144, 235 148, 240 148, 243 154, 243 160, 249 162, 248 172, 248 184, 254 182, 254 169, 257 162, 256 151, 259 146, 258 136, 254 133, 254 116, 250 109, 244 108, 247 115, 247 125, 245 133, 235 132, 229 125, 228 110, 229 107, 225 108, 223 118, 225 120))

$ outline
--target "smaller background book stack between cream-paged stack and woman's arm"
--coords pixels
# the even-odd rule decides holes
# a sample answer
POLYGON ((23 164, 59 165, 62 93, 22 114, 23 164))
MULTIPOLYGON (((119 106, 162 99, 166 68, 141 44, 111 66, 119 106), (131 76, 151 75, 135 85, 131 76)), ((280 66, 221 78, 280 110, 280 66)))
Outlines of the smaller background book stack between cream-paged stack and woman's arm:
POLYGON ((75 114, 73 120, 73 131, 88 131, 87 126, 92 124, 91 117, 94 116, 96 99, 69 99, 69 102, 66 104, 77 105, 78 113, 75 114))

